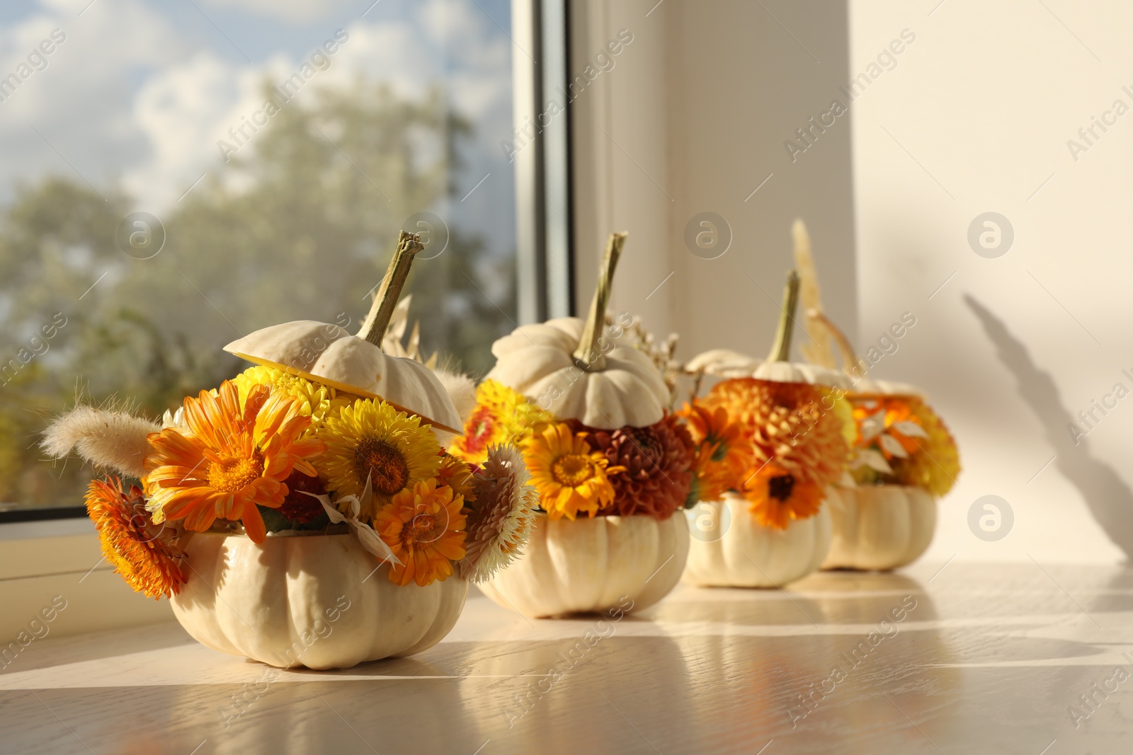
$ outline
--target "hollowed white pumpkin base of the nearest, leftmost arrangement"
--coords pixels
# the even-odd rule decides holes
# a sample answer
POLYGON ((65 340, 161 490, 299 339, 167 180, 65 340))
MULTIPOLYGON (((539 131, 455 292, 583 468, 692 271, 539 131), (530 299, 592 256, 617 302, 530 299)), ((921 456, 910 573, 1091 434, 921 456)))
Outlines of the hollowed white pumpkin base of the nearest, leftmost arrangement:
POLYGON ((468 582, 399 586, 352 534, 195 533, 189 578, 170 602, 197 642, 269 666, 349 668, 419 653, 452 629, 468 582))

